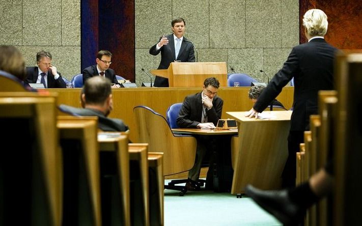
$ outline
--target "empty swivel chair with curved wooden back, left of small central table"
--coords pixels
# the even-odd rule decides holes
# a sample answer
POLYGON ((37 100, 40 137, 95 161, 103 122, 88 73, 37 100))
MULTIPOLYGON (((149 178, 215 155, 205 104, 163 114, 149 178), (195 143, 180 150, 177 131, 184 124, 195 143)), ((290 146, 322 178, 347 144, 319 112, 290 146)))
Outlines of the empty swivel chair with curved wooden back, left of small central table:
MULTIPOLYGON (((173 134, 166 119, 147 106, 135 106, 137 133, 140 143, 149 144, 149 152, 163 152, 163 175, 169 176, 189 171, 196 157, 196 138, 173 134)), ((183 196, 186 186, 164 185, 165 189, 180 191, 183 196)))

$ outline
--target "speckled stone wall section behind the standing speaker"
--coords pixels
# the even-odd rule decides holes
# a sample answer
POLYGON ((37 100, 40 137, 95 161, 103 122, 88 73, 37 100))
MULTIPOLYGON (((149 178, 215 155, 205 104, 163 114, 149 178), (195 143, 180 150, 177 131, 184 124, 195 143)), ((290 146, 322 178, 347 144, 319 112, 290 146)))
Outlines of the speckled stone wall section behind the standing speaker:
POLYGON ((299 44, 298 0, 135 0, 136 82, 148 81, 141 68, 155 69, 160 56, 149 48, 171 34, 171 20, 186 20, 185 37, 198 49, 199 62, 227 62, 259 81, 283 65, 299 44))

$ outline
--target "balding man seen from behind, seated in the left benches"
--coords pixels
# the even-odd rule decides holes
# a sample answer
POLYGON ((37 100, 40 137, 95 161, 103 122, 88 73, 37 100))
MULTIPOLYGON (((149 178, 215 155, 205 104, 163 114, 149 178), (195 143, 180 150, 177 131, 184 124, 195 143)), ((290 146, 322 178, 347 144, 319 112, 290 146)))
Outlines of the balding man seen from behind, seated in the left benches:
POLYGON ((78 116, 98 116, 98 128, 103 131, 123 132, 128 130, 128 126, 122 120, 107 117, 113 110, 109 79, 101 76, 88 79, 83 86, 80 99, 83 108, 62 104, 60 105, 61 110, 78 116))

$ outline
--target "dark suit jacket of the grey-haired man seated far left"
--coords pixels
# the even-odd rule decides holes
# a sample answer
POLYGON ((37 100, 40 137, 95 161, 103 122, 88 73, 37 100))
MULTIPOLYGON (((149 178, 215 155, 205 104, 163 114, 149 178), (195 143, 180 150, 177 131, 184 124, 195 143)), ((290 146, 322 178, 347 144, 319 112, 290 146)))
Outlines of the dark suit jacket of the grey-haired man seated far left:
MULTIPOLYGON (((59 74, 59 78, 55 79, 54 75, 51 73, 49 69, 47 75, 47 88, 65 88, 66 84, 63 80, 61 73, 57 71, 59 74)), ((26 67, 26 80, 24 81, 25 84, 29 83, 36 83, 39 76, 39 68, 38 67, 26 67)))

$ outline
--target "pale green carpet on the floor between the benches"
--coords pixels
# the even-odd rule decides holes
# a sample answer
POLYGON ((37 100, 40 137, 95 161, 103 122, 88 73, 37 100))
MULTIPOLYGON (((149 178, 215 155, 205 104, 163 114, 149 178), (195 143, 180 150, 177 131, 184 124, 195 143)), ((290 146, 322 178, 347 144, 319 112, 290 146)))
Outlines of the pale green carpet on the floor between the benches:
MULTIPOLYGON (((165 183, 168 181, 165 181, 165 183)), ((169 225, 282 225, 252 199, 230 193, 164 190, 164 222, 169 225)))

